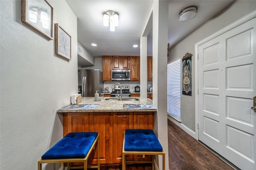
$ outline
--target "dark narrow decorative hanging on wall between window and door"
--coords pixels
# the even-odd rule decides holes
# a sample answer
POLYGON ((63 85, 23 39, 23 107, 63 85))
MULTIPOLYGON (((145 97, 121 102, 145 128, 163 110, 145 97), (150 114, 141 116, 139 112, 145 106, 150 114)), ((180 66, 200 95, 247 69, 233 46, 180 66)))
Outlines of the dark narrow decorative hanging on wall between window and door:
POLYGON ((192 54, 186 53, 182 58, 182 94, 192 94, 192 54))

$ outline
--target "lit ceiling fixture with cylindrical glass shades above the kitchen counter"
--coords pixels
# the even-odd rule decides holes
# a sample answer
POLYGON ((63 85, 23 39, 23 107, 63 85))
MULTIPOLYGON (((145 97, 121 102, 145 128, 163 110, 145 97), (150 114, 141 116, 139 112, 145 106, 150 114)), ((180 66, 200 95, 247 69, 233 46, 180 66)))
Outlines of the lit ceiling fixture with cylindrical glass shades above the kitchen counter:
POLYGON ((113 11, 107 11, 103 15, 103 25, 108 27, 110 25, 110 31, 115 31, 115 27, 118 26, 118 14, 113 11))

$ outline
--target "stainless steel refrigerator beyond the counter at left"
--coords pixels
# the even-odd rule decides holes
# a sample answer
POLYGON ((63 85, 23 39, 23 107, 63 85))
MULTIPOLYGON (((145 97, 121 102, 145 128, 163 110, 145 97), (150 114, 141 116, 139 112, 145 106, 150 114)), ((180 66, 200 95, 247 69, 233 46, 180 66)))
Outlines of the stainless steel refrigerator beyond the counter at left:
POLYGON ((96 90, 99 94, 104 89, 102 72, 98 69, 79 69, 78 70, 78 94, 82 97, 94 97, 96 90))

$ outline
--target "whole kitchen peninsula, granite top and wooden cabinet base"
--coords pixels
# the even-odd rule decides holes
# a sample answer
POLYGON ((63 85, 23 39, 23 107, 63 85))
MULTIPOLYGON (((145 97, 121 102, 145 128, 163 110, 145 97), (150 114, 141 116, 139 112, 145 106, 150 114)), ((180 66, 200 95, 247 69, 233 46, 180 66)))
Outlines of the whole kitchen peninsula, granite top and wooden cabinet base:
MULTIPOLYGON (((98 132, 100 134, 100 164, 122 164, 124 130, 154 130, 156 108, 151 105, 152 100, 135 98, 139 100, 101 100, 96 102, 94 97, 82 97, 82 102, 77 106, 96 107, 72 109, 72 106, 76 105, 70 105, 58 109, 57 113, 63 115, 63 136, 70 132, 98 132), (125 107, 130 105, 131 107, 125 107)), ((123 99, 134 98, 124 97, 123 99)), ((128 155, 126 160, 150 160, 150 156, 143 158, 142 155, 128 155)), ((97 162, 97 152, 93 152, 88 163, 96 164, 97 162)))

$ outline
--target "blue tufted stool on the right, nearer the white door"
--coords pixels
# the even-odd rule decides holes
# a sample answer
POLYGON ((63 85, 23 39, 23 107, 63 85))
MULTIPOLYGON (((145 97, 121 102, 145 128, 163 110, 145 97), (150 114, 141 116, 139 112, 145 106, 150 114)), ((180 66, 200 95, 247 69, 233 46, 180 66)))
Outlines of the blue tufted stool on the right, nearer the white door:
MULTIPOLYGON (((122 170, 125 170, 126 163, 148 163, 149 161, 128 161, 126 154, 142 154, 143 158, 145 155, 162 155, 163 170, 165 169, 165 152, 151 129, 126 129, 122 151, 122 170)), ((150 163, 152 163, 152 170, 154 170, 154 156, 150 163)))

